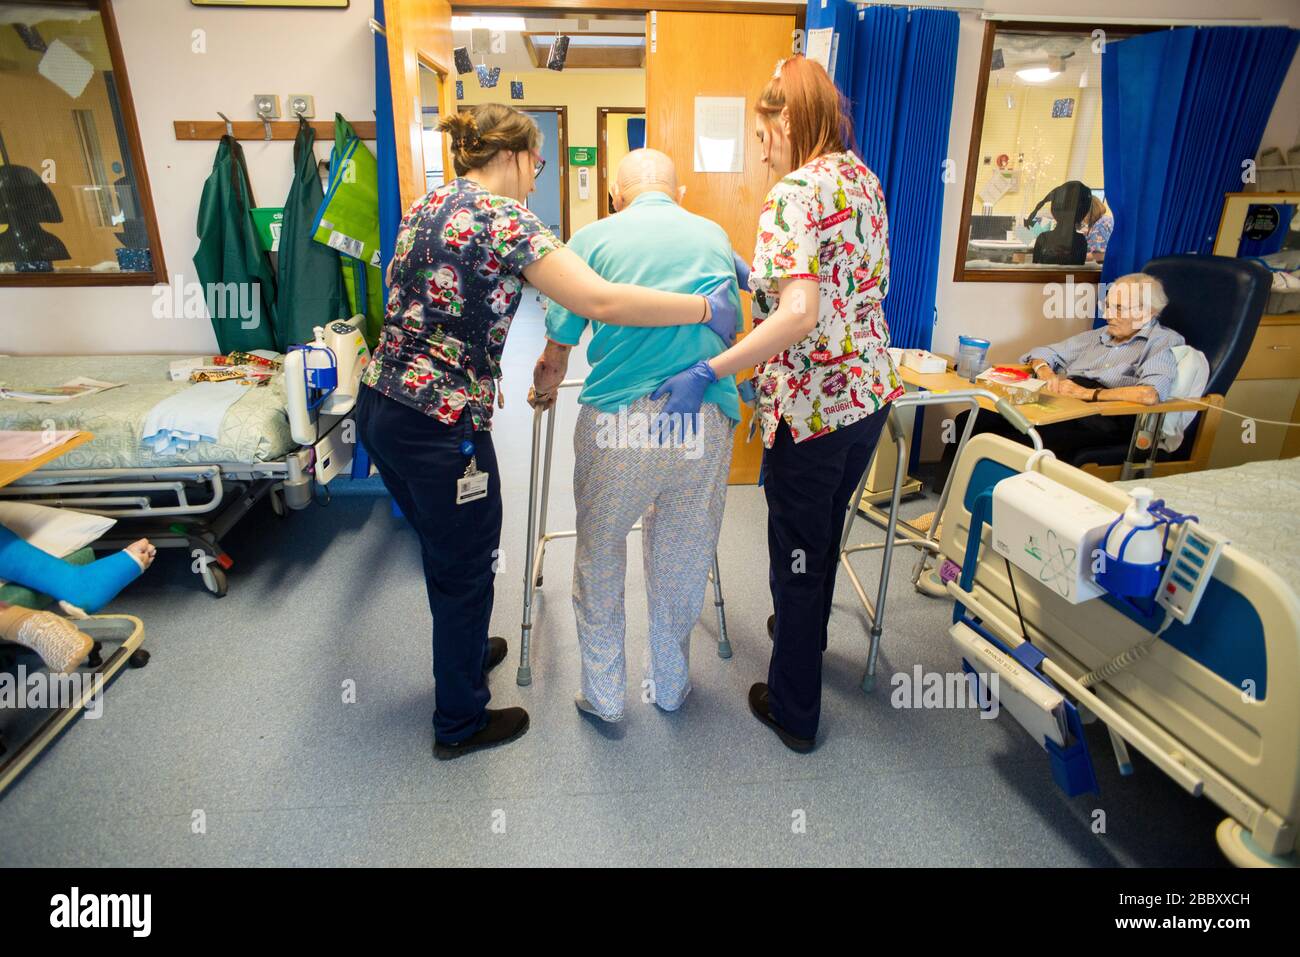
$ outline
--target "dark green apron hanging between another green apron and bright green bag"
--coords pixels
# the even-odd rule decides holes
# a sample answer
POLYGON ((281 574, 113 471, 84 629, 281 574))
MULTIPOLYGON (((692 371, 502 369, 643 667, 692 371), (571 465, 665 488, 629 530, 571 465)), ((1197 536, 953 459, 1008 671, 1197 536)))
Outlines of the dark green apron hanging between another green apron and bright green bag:
POLYGON ((276 300, 276 345, 281 352, 311 342, 312 329, 346 319, 338 254, 312 241, 312 222, 325 191, 316 172, 316 130, 299 117, 294 140, 294 185, 285 198, 280 230, 280 294, 276 300))

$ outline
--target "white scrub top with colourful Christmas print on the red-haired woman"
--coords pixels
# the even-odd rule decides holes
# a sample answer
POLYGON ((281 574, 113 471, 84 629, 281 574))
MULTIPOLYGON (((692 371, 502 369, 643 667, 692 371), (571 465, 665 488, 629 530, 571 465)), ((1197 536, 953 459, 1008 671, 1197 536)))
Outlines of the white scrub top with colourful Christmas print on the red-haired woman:
POLYGON ((776 312, 781 280, 818 282, 816 329, 754 376, 768 449, 781 420, 802 442, 902 395, 881 308, 887 241, 880 181, 852 152, 819 156, 767 194, 749 278, 754 325, 776 312))

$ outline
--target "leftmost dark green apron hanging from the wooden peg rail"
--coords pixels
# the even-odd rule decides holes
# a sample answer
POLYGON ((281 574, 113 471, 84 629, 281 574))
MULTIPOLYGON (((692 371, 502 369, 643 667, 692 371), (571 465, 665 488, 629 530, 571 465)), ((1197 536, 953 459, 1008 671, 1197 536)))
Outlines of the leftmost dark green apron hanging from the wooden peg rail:
POLYGON ((276 278, 257 242, 243 147, 222 137, 199 200, 194 269, 222 352, 276 348, 276 278))

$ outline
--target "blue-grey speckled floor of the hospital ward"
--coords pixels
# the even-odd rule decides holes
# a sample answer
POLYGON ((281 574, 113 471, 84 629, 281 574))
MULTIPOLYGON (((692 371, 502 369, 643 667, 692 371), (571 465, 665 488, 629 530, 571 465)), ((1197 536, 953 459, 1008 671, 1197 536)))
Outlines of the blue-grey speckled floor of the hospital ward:
MULTIPOLYGON (((573 709, 567 542, 546 567, 533 684, 516 687, 530 429, 523 394, 540 343, 529 302, 507 350, 510 404, 497 417, 506 567, 493 631, 511 641, 511 658, 491 681, 494 705, 528 707, 523 740, 455 762, 432 758, 419 549, 385 495, 356 489, 286 520, 263 508, 228 541, 237 564, 226 598, 198 588, 188 560, 172 551, 110 609, 146 622, 152 662, 126 671, 103 718, 77 722, 0 801, 0 862, 1221 865, 1213 830, 1222 815, 1136 754, 1138 774, 1121 779, 1100 727, 1091 744, 1101 794, 1067 800, 1010 719, 890 706, 894 672, 958 667, 945 635, 950 605, 911 590, 911 553, 894 568, 872 696, 859 689, 861 606, 841 576, 820 745, 809 755, 786 750, 745 706, 767 672, 771 611, 757 488, 729 490, 723 524, 734 657, 715 654, 706 606, 681 711, 633 701, 623 724, 601 726, 573 709), (355 683, 355 703, 343 703, 344 683, 355 683)), ((572 528, 573 415, 569 395, 552 528, 572 528)), ((924 501, 907 508, 928 511, 924 501)), ((859 529, 858 540, 871 537, 866 523, 859 529)), ((633 536, 633 687, 645 632, 638 551, 633 536)), ((878 580, 878 562, 859 559, 866 581, 878 580)))

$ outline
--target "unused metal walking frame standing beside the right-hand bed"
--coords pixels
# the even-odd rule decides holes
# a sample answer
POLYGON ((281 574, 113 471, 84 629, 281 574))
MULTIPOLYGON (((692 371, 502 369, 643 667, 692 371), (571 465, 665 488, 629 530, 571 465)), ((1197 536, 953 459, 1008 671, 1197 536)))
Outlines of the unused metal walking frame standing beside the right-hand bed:
POLYGON ((876 661, 880 655, 880 636, 884 631, 885 593, 889 586, 889 568, 890 562, 893 560, 893 549, 896 545, 909 545, 920 553, 911 573, 911 584, 918 585, 920 576, 926 570, 926 560, 931 555, 939 554, 940 546, 936 541, 939 523, 944 515, 944 508, 948 505, 948 493, 953 484, 953 475, 956 473, 956 469, 949 471, 948 480, 944 482, 944 489, 939 495, 939 507, 935 510, 935 520, 930 523, 930 528, 924 533, 906 521, 900 521, 898 499, 902 497, 902 484, 906 481, 907 476, 909 449, 907 437, 904 432, 902 421, 898 417, 898 411, 909 406, 939 404, 957 404, 970 408, 970 415, 966 417, 966 426, 962 429, 962 436, 957 445, 957 458, 961 458, 962 450, 966 449, 966 442, 970 439, 975 428, 975 417, 980 411, 980 399, 988 399, 994 403, 997 412, 1000 412, 1004 419, 1030 437, 1034 442, 1035 450, 1043 449, 1043 438, 1039 436, 1037 429, 1030 425, 1030 421, 1020 413, 1020 411, 1006 399, 994 395, 985 389, 962 389, 950 393, 907 393, 890 403, 889 417, 887 420, 889 425, 889 434, 893 438, 898 455, 897 468, 894 468, 893 490, 889 495, 889 511, 881 512, 881 510, 876 506, 861 506, 862 492, 866 488, 867 477, 871 471, 870 465, 863 469, 862 478, 858 481, 858 488, 849 499, 849 512, 844 520, 844 531, 840 534, 840 564, 844 566, 844 570, 849 576, 849 581, 853 583, 853 589, 858 593, 858 599, 862 602, 862 607, 867 612, 867 622, 870 624, 868 633, 871 648, 867 651, 867 670, 862 676, 863 692, 870 693, 875 689, 876 661), (853 520, 857 518, 859 507, 872 524, 880 525, 885 529, 885 540, 883 542, 849 545, 849 533, 853 529, 853 520), (872 602, 867 597, 867 592, 863 588, 862 581, 858 579, 858 573, 849 563, 849 555, 857 551, 872 551, 875 549, 881 549, 884 551, 884 557, 880 566, 880 584, 876 589, 876 599, 872 602))

